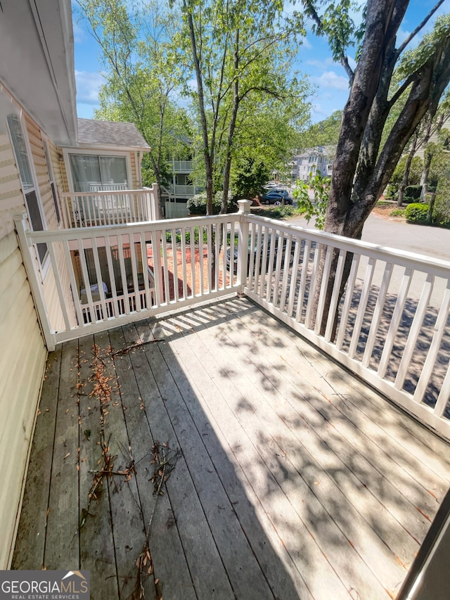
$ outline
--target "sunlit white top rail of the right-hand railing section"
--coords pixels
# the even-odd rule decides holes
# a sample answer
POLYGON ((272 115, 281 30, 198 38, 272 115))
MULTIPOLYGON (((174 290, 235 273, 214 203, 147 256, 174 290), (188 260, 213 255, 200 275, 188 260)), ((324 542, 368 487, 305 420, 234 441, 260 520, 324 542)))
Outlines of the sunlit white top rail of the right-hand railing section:
POLYGON ((345 238, 336 234, 329 234, 326 231, 316 231, 306 229, 300 225, 283 224, 276 219, 268 219, 267 217, 259 217, 257 215, 248 215, 250 223, 271 226, 277 231, 283 231, 285 234, 292 234, 297 231, 302 238, 315 241, 316 243, 333 245, 340 250, 366 255, 377 260, 399 264, 401 267, 408 267, 418 271, 430 273, 438 277, 450 278, 450 261, 441 260, 428 255, 416 254, 399 250, 398 248, 389 248, 380 246, 371 242, 354 240, 345 238))

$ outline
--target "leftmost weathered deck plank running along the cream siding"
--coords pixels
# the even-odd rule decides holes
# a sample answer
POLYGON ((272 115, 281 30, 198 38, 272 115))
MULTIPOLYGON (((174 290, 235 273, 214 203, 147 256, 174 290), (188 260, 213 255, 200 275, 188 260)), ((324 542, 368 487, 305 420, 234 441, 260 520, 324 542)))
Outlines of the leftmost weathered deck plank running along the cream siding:
POLYGON ((22 569, 32 569, 39 564, 44 565, 47 508, 51 479, 51 469, 47 466, 51 464, 53 455, 61 353, 62 347, 58 345, 55 352, 49 355, 46 363, 46 385, 42 389, 39 402, 30 463, 28 465, 30 484, 25 487, 19 522, 19 530, 26 528, 29 532, 29 538, 18 537, 13 554, 12 568, 16 568, 15 565, 18 564, 22 569), (33 544, 28 542, 29 539, 33 540, 33 544))

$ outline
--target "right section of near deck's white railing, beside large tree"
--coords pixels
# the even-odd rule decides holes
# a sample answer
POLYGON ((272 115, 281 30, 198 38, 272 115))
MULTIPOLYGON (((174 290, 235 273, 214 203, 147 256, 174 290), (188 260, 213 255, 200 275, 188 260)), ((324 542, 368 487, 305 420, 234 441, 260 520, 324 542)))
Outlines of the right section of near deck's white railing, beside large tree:
POLYGON ((450 263, 261 217, 248 222, 250 248, 259 250, 249 253, 245 293, 450 439, 450 263))

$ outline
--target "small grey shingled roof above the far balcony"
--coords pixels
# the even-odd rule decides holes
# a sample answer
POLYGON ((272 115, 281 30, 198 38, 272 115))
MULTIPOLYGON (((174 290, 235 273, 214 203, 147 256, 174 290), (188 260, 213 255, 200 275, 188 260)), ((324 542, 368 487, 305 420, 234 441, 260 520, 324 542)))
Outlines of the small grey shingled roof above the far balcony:
POLYGON ((134 123, 78 119, 78 143, 149 148, 134 123))

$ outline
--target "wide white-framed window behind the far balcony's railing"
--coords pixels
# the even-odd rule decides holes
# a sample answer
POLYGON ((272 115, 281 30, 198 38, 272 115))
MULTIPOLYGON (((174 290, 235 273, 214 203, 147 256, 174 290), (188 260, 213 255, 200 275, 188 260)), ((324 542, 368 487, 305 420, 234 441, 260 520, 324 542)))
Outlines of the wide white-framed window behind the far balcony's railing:
POLYGON ((70 154, 69 157, 74 191, 128 189, 124 156, 70 154))

